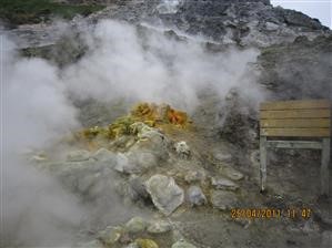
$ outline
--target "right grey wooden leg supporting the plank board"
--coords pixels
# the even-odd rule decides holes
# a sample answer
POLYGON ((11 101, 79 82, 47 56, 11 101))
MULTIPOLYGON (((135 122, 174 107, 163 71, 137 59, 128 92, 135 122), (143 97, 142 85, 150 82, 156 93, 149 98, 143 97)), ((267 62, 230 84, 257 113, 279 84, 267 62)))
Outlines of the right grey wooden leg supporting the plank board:
POLYGON ((329 196, 329 164, 330 138, 323 138, 322 165, 321 165, 321 194, 329 196))

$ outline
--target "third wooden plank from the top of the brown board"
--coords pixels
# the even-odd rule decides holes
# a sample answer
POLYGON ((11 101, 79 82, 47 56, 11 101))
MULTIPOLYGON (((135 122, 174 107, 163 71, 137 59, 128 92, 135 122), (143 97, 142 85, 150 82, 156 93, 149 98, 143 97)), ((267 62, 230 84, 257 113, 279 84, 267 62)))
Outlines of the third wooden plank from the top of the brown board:
POLYGON ((330 118, 262 120, 261 127, 330 127, 330 118))

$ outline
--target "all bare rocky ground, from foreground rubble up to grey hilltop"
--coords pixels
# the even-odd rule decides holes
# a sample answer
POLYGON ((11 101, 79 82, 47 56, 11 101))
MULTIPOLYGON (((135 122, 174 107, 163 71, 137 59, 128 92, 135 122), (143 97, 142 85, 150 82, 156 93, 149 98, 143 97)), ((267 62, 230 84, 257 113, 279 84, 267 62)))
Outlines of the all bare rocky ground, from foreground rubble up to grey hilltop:
MULTIPOLYGON (((63 25, 6 32, 18 39, 22 55, 62 68, 89 52, 80 29, 108 18, 142 30, 160 23, 159 32, 184 42, 201 35, 210 52, 254 46, 261 53, 251 66, 269 97, 331 99, 331 31, 265 0, 110 1, 63 25)), ((222 101, 213 91, 199 97, 190 115, 168 105, 130 112, 132 102, 74 100, 84 128, 24 155, 89 209, 73 247, 331 247, 332 203, 319 197, 320 154, 271 151, 261 194, 258 110, 237 89, 222 101), (233 209, 282 213, 248 217, 233 209), (296 216, 289 215, 293 209, 296 216)))

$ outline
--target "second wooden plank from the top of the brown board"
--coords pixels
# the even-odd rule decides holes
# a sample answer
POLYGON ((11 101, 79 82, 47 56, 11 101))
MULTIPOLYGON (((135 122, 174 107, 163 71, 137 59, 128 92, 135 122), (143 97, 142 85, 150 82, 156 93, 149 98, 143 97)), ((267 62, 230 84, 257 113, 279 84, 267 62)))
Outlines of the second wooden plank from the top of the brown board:
POLYGON ((261 120, 266 118, 330 118, 331 110, 261 111, 261 120))

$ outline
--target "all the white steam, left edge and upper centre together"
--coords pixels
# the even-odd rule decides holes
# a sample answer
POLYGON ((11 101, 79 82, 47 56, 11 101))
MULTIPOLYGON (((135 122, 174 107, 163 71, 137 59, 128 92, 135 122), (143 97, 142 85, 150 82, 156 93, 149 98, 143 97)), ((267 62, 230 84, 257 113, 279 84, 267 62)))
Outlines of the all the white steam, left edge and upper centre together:
POLYGON ((255 61, 255 50, 212 53, 194 39, 179 41, 111 20, 98 23, 85 35, 87 54, 62 70, 41 59, 19 58, 13 45, 2 39, 1 234, 18 245, 68 244, 69 230, 80 224, 84 213, 56 179, 29 167, 19 155, 26 148, 42 149, 79 127, 78 110, 70 97, 165 102, 189 112, 205 87, 221 100, 233 87, 250 100, 262 97, 247 66, 255 61))

